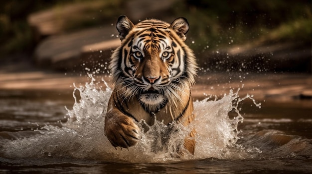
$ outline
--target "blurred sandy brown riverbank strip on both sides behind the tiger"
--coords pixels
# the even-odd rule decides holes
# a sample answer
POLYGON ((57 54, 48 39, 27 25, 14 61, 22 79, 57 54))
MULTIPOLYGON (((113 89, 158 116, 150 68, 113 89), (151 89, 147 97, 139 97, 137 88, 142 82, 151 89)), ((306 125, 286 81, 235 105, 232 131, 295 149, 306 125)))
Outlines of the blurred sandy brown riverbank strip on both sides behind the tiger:
MULTIPOLYGON (((195 99, 203 99, 210 95, 220 98, 232 89, 234 92, 239 90, 240 96, 249 94, 259 101, 312 102, 311 74, 237 71, 215 73, 208 71, 200 74, 192 89, 195 99)), ((103 78, 110 84, 111 78, 107 74, 95 74, 94 77, 99 81, 103 78)), ((19 58, 18 63, 6 62, 0 66, 0 97, 16 95, 40 97, 39 94, 44 94, 50 97, 63 95, 72 98, 74 84, 79 87, 90 80, 86 71, 53 71, 35 66, 28 58, 19 58)))

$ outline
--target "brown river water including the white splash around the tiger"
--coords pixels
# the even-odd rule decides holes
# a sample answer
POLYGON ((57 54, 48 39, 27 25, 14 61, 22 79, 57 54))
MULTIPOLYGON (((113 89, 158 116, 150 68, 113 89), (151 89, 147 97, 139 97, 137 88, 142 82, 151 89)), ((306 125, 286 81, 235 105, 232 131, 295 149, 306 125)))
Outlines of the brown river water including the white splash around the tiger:
POLYGON ((194 102, 196 120, 158 145, 156 122, 129 149, 111 146, 104 116, 111 89, 92 80, 73 99, 0 99, 0 173, 311 173, 312 108, 275 105, 229 91, 194 102), (64 107, 66 106, 66 107, 64 107), (261 109, 260 109, 261 108, 261 109), (195 155, 175 149, 196 128, 195 155), (157 150, 155 150, 155 146, 157 150))

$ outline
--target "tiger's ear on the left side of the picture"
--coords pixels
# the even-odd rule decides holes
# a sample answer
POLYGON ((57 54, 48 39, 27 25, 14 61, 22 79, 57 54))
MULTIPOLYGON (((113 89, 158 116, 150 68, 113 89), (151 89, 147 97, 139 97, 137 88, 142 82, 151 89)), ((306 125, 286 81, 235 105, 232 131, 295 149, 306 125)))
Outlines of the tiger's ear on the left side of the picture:
POLYGON ((131 20, 123 15, 119 16, 116 24, 116 28, 119 32, 120 40, 124 40, 129 33, 129 31, 134 27, 135 25, 131 22, 131 20))

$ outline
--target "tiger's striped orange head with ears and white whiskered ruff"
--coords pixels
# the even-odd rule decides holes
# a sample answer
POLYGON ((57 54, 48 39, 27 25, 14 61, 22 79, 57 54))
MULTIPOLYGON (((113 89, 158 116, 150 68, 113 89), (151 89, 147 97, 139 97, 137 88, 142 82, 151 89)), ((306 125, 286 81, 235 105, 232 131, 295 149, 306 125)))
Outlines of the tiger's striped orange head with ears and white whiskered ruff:
POLYGON ((184 43, 189 29, 185 18, 171 24, 149 19, 134 25, 120 16, 116 27, 122 44, 111 57, 110 69, 125 99, 137 97, 153 112, 190 95, 184 91, 194 84, 197 64, 184 43))

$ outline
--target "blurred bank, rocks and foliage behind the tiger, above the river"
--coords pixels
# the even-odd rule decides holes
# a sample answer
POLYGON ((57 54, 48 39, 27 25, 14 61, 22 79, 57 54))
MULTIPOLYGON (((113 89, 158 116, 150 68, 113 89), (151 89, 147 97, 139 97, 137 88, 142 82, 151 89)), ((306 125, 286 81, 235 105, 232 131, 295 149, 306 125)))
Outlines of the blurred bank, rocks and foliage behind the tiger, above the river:
MULTIPOLYGON (((311 85, 311 0, 2 0, 0 88, 23 88, 22 77, 30 79, 24 81, 28 88, 40 88, 34 78, 47 80, 41 87, 59 88, 61 81, 67 81, 68 88, 68 83, 79 80, 57 78, 52 83, 47 72, 50 76, 61 72, 58 77, 64 72, 67 77, 86 71, 107 73, 112 50, 120 45, 115 24, 123 14, 133 23, 187 18, 186 43, 200 64, 199 77, 204 76, 197 82, 219 86, 224 79, 231 88, 234 78, 240 82, 236 87, 244 86, 242 80, 252 74, 249 79, 257 79, 258 86, 267 77, 272 86, 285 77, 272 74, 297 75, 285 77, 285 84, 305 74, 302 84, 311 85), (31 71, 41 74, 26 76, 31 71), (12 72, 20 73, 9 77, 12 72)), ((312 96, 310 88, 305 91, 312 96)))

